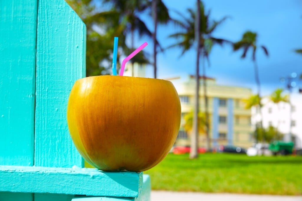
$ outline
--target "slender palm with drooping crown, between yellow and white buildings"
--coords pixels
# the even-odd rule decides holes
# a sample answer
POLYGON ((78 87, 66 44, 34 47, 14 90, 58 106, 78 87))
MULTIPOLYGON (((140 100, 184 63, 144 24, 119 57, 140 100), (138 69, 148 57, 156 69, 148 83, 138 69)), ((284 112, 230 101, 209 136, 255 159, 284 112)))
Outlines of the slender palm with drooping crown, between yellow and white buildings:
MULTIPOLYGON (((268 50, 265 46, 261 45, 260 46, 263 52, 265 53, 266 56, 268 56, 268 50)), ((234 51, 237 51, 239 49, 243 49, 243 53, 241 55, 241 58, 244 59, 246 58, 246 53, 248 52, 249 49, 252 49, 252 61, 254 63, 254 70, 255 70, 255 81, 257 84, 257 95, 261 97, 261 86, 260 86, 260 80, 259 80, 259 71, 258 71, 258 65, 256 62, 256 50, 259 48, 257 45, 257 34, 252 31, 246 31, 243 34, 243 37, 241 40, 233 44, 233 49, 234 51)), ((260 112, 260 127, 262 128, 262 113, 261 113, 261 103, 259 102, 259 112, 260 112)), ((258 126, 258 124, 256 124, 258 126)))

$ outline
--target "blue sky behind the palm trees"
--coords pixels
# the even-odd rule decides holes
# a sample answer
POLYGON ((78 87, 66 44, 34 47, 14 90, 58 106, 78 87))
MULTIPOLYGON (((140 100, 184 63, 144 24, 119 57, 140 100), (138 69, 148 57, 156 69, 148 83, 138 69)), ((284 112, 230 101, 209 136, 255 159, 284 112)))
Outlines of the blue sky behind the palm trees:
MULTIPOLYGON (((194 8, 196 0, 163 0, 170 9, 173 18, 179 16, 173 12, 177 10, 186 14, 187 8, 194 8)), ((203 1, 206 10, 211 10, 211 18, 219 20, 224 16, 226 20, 217 31, 215 37, 223 37, 237 41, 246 30, 258 33, 258 44, 268 48, 270 56, 264 56, 261 49, 257 53, 257 62, 260 69, 260 81, 263 95, 271 93, 277 87, 283 87, 280 82, 282 76, 292 72, 302 73, 302 56, 293 52, 302 48, 302 1, 237 1, 237 0, 206 0, 203 1)), ((152 19, 146 14, 142 16, 150 30, 153 30, 152 19)), ((168 39, 169 34, 175 33, 178 28, 173 24, 159 25, 158 40, 163 47, 169 46, 175 40, 168 39)), ((135 45, 147 41, 145 49, 152 53, 152 41, 148 38, 136 40, 135 45)), ((179 57, 178 48, 169 49, 158 55, 158 76, 168 77, 173 74, 190 73, 195 71, 195 50, 188 51, 179 57)), ((217 79, 223 85, 245 86, 255 90, 255 75, 253 63, 248 58, 240 59, 240 52, 234 53, 230 46, 216 46, 210 55, 211 66, 207 68, 207 75, 217 79)), ((153 77, 152 67, 147 68, 147 76, 153 77)))

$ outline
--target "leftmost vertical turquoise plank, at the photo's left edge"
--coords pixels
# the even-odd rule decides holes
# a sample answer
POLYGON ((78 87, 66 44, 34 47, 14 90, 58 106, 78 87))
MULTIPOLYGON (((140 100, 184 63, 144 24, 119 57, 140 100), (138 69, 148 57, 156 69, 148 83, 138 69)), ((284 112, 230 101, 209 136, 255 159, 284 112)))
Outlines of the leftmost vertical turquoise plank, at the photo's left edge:
POLYGON ((0 165, 33 165, 37 0, 0 1, 0 165))

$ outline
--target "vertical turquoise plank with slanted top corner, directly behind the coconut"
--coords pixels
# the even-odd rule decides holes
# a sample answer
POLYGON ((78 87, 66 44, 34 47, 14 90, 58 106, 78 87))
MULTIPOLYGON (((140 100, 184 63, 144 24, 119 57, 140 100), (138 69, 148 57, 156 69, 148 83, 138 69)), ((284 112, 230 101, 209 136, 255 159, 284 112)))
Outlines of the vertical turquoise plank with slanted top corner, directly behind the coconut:
POLYGON ((63 0, 39 0, 35 165, 83 167, 67 127, 74 82, 85 77, 86 27, 63 0))

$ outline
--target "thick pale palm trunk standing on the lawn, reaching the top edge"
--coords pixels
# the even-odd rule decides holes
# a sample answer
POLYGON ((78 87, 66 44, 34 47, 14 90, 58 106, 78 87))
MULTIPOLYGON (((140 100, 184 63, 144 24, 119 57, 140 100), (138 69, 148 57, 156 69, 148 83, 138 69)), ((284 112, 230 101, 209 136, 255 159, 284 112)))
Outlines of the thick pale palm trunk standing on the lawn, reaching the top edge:
POLYGON ((190 158, 198 157, 198 113, 199 113, 199 56, 200 56, 200 0, 197 0, 197 16, 195 19, 195 40, 197 41, 196 57, 196 88, 195 88, 195 110, 193 114, 193 132, 191 135, 190 158))

